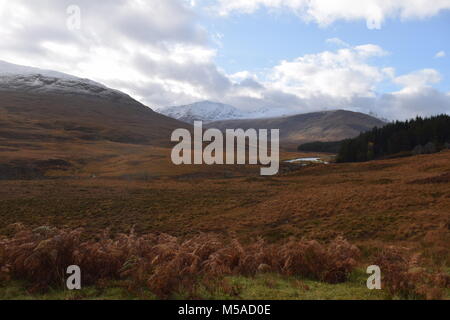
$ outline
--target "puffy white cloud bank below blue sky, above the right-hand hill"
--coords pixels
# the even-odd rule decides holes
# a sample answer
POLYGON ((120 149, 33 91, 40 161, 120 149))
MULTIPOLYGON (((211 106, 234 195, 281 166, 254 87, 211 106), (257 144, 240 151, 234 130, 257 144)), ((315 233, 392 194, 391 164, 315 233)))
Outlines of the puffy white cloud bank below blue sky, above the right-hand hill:
POLYGON ((423 69, 396 76, 392 67, 370 64, 371 58, 385 54, 374 45, 354 46, 282 61, 262 80, 255 74, 240 72, 232 78, 252 79, 260 86, 251 88, 250 94, 235 90, 225 99, 244 108, 264 105, 277 110, 276 114, 327 109, 373 112, 388 119, 450 114, 450 94, 432 88, 441 81, 438 71, 423 69), (385 81, 401 88, 380 94, 377 87, 385 81))

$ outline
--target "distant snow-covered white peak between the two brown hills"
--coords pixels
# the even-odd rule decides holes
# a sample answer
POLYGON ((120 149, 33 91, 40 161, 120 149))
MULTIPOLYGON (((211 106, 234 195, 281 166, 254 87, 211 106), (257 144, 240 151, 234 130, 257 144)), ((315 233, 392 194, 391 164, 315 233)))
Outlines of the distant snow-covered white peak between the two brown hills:
POLYGON ((157 110, 168 117, 187 123, 194 121, 212 122, 247 118, 248 113, 223 103, 201 101, 190 105, 161 108, 157 110))

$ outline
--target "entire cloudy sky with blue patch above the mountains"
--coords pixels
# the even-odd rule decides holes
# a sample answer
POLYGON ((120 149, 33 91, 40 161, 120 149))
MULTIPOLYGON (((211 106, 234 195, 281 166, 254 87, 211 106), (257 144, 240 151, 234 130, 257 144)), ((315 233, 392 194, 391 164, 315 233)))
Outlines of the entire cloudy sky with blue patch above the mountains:
POLYGON ((0 60, 153 108, 450 113, 449 30, 450 0, 0 0, 0 60))

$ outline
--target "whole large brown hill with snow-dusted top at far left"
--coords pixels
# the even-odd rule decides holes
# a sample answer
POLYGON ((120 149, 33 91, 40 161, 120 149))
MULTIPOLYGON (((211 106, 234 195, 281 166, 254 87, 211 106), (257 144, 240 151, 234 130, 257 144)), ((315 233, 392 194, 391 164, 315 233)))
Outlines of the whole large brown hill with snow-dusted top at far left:
POLYGON ((4 61, 0 114, 0 140, 28 137, 168 146, 173 130, 189 128, 95 81, 4 61))

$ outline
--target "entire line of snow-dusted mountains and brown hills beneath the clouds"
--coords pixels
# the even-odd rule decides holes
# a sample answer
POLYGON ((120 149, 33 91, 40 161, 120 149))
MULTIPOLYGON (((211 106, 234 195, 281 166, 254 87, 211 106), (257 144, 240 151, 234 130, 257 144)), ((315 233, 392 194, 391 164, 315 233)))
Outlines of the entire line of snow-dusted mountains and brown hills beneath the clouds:
POLYGON ((268 117, 268 109, 244 112, 210 101, 159 112, 164 115, 88 79, 0 61, 0 141, 109 140, 168 146, 173 130, 202 120, 206 127, 222 130, 280 129, 282 141, 298 144, 353 138, 385 124, 343 110, 268 117))

